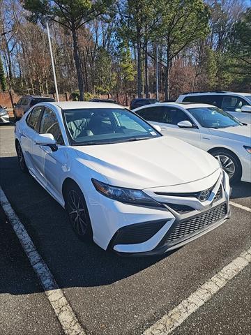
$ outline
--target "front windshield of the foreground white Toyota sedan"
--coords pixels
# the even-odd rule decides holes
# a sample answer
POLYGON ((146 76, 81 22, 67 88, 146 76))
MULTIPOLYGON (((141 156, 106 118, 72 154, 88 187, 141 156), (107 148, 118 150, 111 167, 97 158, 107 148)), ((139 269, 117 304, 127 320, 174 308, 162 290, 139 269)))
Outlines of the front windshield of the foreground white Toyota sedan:
POLYGON ((63 110, 72 145, 94 145, 160 137, 137 115, 121 108, 63 110))

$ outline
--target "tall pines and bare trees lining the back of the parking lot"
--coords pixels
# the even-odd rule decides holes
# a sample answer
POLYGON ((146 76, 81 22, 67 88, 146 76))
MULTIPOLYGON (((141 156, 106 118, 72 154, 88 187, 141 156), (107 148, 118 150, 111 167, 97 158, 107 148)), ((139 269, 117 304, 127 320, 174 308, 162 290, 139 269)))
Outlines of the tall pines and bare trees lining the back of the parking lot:
POLYGON ((251 8, 242 0, 1 0, 1 91, 80 101, 251 90, 251 8))

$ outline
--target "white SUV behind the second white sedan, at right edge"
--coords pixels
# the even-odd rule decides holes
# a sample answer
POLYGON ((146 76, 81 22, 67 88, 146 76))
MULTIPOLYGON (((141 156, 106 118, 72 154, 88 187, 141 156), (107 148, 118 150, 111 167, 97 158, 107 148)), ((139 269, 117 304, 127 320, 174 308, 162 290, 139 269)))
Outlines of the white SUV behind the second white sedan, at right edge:
POLYGON ((241 122, 251 124, 251 93, 227 91, 195 92, 179 96, 177 103, 208 103, 237 117, 241 122))

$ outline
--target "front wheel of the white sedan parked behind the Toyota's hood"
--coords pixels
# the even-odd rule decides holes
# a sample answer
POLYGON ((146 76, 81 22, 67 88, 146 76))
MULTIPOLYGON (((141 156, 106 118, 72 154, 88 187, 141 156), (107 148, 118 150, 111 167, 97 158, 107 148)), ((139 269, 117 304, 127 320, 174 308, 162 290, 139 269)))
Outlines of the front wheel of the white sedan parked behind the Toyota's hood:
POLYGON ((229 175, 231 184, 234 184, 241 179, 241 163, 238 161, 235 154, 231 153, 231 151, 218 149, 211 151, 211 155, 220 161, 223 170, 229 175))

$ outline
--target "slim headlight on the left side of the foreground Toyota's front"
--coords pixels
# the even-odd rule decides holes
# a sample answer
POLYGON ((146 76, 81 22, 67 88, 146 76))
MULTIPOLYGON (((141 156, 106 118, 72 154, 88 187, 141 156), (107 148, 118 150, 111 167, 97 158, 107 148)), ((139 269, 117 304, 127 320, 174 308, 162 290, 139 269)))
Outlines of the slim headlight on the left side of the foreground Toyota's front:
POLYGON ((126 204, 137 204, 148 207, 162 207, 162 204, 155 201, 141 190, 110 186, 96 179, 91 179, 91 181, 93 182, 96 190, 102 195, 105 195, 107 198, 124 202, 126 204))

